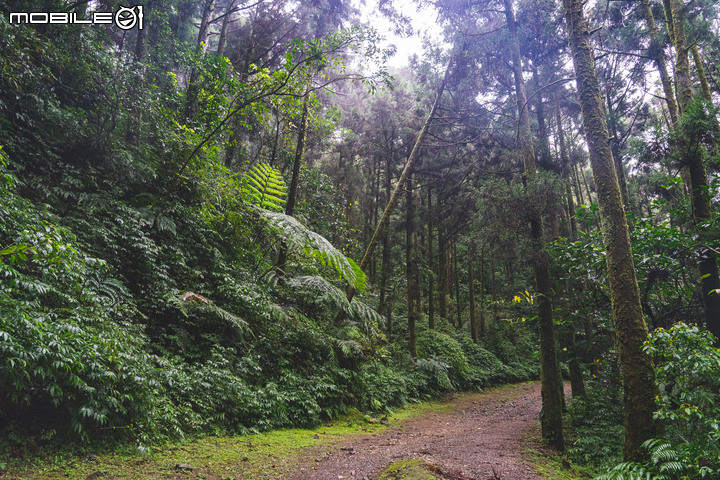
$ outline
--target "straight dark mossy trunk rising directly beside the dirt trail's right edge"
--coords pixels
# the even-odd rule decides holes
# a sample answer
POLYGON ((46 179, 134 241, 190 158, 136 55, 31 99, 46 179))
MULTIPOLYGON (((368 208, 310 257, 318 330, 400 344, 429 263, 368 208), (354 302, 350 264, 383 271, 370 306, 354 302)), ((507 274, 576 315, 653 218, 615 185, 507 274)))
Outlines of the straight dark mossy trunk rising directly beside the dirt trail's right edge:
MULTIPOLYGON (((517 24, 512 0, 504 0, 505 18, 510 31, 510 56, 515 79, 515 97, 518 106, 518 147, 523 162, 524 181, 527 191, 532 195, 537 184, 537 166, 530 132, 530 116, 527 110, 527 95, 523 80, 522 59, 517 24)), ((540 423, 542 436, 548 443, 560 450, 565 448, 562 427, 563 390, 560 378, 560 366, 555 344, 552 304, 550 302, 549 259, 543 240, 543 222, 534 205, 528 206, 530 235, 533 244, 533 270, 537 289, 538 330, 540 332, 540 365, 542 377, 542 410, 540 423)))

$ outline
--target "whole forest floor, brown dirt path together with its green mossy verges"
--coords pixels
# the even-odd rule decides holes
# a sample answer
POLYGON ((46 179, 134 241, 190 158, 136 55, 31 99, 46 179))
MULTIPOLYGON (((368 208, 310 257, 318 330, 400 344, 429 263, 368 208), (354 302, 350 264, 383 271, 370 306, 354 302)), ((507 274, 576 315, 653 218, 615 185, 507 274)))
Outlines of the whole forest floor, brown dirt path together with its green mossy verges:
POLYGON ((10 466, 0 479, 572 480, 587 478, 539 440, 539 382, 450 395, 390 418, 312 430, 207 437, 136 452, 10 466))

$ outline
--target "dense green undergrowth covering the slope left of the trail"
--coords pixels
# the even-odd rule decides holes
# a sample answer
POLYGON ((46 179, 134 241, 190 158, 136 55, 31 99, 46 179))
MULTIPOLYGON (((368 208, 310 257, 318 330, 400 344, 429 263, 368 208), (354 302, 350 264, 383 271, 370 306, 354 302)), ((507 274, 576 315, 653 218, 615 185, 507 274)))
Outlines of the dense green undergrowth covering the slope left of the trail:
POLYGON ((401 336, 383 340, 370 307, 334 323, 330 282, 342 269, 300 249, 293 267, 304 275, 273 281, 261 245, 298 233, 264 219, 241 183, 232 205, 181 203, 83 191, 69 169, 53 193, 58 212, 23 198, 2 160, 5 454, 305 427, 350 407, 537 376, 527 333, 474 344, 454 327, 421 326, 412 359, 401 336), (309 275, 315 283, 297 281, 309 275))

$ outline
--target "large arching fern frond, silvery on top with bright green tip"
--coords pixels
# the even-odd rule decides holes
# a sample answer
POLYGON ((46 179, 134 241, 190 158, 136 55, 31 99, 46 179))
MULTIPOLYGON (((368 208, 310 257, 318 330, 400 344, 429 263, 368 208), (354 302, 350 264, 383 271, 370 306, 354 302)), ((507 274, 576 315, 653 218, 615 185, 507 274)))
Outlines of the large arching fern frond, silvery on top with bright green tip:
POLYGON ((365 273, 322 235, 309 230, 297 219, 284 213, 257 209, 277 234, 285 241, 288 251, 302 253, 319 263, 332 267, 348 284, 362 293, 365 290, 365 273))

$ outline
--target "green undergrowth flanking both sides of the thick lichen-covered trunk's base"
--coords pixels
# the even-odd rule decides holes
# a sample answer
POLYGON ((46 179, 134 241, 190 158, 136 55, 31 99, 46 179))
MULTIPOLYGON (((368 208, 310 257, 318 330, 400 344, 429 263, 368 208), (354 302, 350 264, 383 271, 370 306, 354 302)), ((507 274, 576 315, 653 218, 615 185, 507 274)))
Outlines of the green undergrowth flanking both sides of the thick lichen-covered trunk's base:
POLYGON ((573 398, 569 448, 579 463, 608 470, 598 480, 699 480, 720 472, 720 349, 715 338, 679 323, 650 334, 645 350, 656 362, 657 436, 645 442, 643 462, 621 462, 622 388, 612 362, 598 365, 587 395, 573 398))

